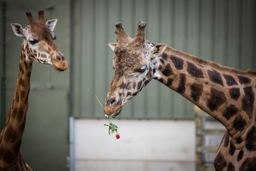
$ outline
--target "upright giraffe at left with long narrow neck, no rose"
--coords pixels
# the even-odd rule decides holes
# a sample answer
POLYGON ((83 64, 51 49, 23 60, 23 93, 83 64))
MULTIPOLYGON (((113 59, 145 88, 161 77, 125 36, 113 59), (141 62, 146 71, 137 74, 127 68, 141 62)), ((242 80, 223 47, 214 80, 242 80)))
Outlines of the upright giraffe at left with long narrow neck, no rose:
POLYGON ((57 71, 68 68, 65 56, 54 44, 53 33, 57 19, 45 22, 44 11, 39 11, 35 22, 30 12, 26 12, 29 25, 23 29, 19 24, 11 24, 15 35, 22 37, 19 74, 12 106, 8 119, 0 134, 0 170, 32 170, 23 160, 19 152, 25 129, 30 90, 30 75, 33 60, 53 65, 57 71))

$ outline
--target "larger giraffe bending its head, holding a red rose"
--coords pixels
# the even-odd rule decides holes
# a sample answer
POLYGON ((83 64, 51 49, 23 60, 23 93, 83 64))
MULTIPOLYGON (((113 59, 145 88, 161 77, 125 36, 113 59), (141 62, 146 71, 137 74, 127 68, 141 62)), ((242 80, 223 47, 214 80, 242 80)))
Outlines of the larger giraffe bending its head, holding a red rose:
POLYGON ((256 72, 239 71, 145 40, 144 22, 135 38, 116 23, 114 78, 105 99, 106 117, 156 79, 193 102, 226 127, 216 170, 256 170, 256 72))

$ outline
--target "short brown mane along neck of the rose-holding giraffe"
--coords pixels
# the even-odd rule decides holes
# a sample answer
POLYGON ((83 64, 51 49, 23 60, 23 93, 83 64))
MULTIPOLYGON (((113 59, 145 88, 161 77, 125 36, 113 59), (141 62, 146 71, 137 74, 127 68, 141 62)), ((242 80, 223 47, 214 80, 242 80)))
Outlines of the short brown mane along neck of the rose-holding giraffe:
MULTIPOLYGON (((154 42, 152 42, 152 45, 155 46, 156 44, 154 42)), ((218 71, 224 72, 226 74, 230 74, 232 73, 233 75, 241 75, 241 76, 250 76, 250 77, 256 77, 256 71, 250 70, 248 69, 247 71, 242 71, 242 70, 238 70, 236 68, 230 68, 230 67, 226 67, 226 66, 222 66, 219 63, 215 63, 212 61, 208 61, 208 60, 203 60, 197 56, 194 55, 190 55, 187 53, 184 53, 182 51, 167 47, 164 51, 166 54, 174 54, 176 56, 180 56, 180 57, 184 57, 187 60, 191 61, 191 62, 195 62, 199 65, 202 66, 209 66, 213 69, 216 69, 218 71)))

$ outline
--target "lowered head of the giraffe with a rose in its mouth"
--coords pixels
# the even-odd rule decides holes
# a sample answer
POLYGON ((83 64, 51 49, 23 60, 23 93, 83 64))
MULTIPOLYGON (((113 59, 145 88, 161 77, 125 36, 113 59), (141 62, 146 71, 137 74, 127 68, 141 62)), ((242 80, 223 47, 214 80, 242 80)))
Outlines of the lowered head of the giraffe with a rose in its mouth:
POLYGON ((134 38, 125 33, 120 22, 115 26, 118 44, 109 44, 115 52, 113 57, 115 75, 105 99, 106 118, 117 116, 122 106, 153 79, 154 59, 167 47, 166 44, 153 46, 150 41, 145 40, 146 23, 144 22, 138 24, 134 38))

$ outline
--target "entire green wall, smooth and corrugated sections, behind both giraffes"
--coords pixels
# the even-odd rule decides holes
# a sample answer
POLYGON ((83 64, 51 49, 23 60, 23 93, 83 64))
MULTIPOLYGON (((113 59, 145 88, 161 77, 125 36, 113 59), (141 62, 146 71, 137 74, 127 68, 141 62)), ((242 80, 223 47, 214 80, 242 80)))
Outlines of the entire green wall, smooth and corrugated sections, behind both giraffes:
MULTIPOLYGON (((67 71, 57 72, 52 66, 33 63, 21 149, 26 162, 34 170, 68 170, 69 115, 104 118, 95 95, 104 104, 114 74, 114 53, 108 43, 116 42, 116 22, 120 21, 125 31, 134 37, 138 22, 144 20, 146 39, 150 41, 166 43, 225 66, 255 70, 255 6, 253 0, 6 1, 5 63, 0 53, 1 77, 2 67, 6 68, 6 105, 1 103, 1 109, 8 111, 12 103, 22 43, 12 32, 10 23, 25 27, 26 11, 37 18, 37 12, 44 9, 46 20, 58 18, 55 42, 70 64, 67 71), (53 89, 47 89, 48 86, 53 89)), ((2 26, 2 13, 0 17, 2 26)), ((0 33, 2 38, 2 27, 0 33)), ((0 52, 3 47, 0 39, 0 52)), ((2 79, 0 81, 2 83, 2 79)), ((2 97, 2 92, 0 95, 2 97)), ((1 119, 6 115, 2 113, 1 119)), ((153 80, 124 105, 119 118, 191 119, 194 106, 153 80)))

